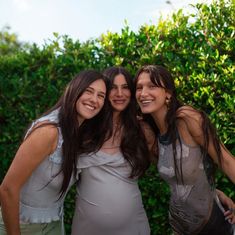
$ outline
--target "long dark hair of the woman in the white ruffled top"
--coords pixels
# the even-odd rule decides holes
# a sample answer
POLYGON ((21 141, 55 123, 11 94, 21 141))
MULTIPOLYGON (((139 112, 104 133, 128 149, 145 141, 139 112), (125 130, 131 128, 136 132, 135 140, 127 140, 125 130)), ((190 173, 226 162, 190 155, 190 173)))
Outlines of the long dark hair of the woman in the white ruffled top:
POLYGON ((78 123, 76 111, 77 100, 91 83, 99 79, 104 81, 103 75, 95 70, 81 71, 69 82, 58 102, 43 114, 45 116, 59 109, 58 123, 50 124, 60 127, 63 136, 62 166, 61 171, 58 172, 58 174, 63 173, 60 197, 66 193, 72 174, 77 174, 76 164, 79 154, 96 151, 102 146, 105 138, 102 131, 103 126, 97 125, 97 122, 103 123, 101 121, 104 115, 102 110, 95 117, 85 120, 81 125, 78 123), (90 139, 96 141, 90 144, 90 139))

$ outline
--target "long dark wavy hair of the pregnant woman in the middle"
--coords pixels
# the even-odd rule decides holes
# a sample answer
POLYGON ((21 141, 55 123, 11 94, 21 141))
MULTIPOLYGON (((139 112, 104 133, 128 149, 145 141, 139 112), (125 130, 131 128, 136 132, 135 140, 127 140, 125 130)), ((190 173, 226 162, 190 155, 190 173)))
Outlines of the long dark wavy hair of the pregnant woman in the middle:
MULTIPOLYGON (((128 88, 130 89, 130 103, 120 114, 121 125, 123 128, 120 148, 124 158, 132 167, 130 177, 139 177, 149 166, 149 151, 143 131, 137 120, 137 103, 133 79, 125 68, 118 66, 107 68, 103 74, 107 86, 107 97, 112 89, 114 78, 119 74, 122 74, 125 77, 128 88)), ((106 123, 109 125, 107 135, 110 137, 113 133, 113 108, 109 100, 107 103, 109 107, 107 108, 105 115, 107 118, 106 123)))

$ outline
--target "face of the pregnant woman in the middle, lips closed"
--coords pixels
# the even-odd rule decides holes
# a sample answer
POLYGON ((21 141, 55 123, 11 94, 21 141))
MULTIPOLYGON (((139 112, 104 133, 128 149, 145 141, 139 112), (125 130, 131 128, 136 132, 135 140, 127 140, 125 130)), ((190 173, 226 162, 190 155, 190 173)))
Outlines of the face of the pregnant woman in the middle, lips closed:
POLYGON ((131 100, 131 91, 123 74, 115 76, 109 93, 109 101, 114 112, 122 112, 131 100))

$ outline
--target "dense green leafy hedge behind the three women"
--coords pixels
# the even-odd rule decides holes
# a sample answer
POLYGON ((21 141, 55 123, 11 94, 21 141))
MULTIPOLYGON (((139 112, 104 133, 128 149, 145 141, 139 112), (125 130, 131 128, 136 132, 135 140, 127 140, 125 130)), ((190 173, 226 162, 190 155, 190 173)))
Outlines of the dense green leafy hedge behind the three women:
MULTIPOLYGON (((106 33, 85 43, 54 34, 43 47, 18 42, 0 32, 0 180, 29 123, 51 107, 80 70, 126 67, 134 76, 144 64, 162 64, 173 74, 179 96, 210 116, 221 140, 235 153, 235 17, 232 0, 197 4, 133 32, 106 33)), ((235 186, 218 171, 217 187, 235 199, 235 186)), ((169 188, 151 166, 139 181, 152 235, 171 234, 167 219, 169 188)), ((69 233, 75 188, 66 198, 69 233)))

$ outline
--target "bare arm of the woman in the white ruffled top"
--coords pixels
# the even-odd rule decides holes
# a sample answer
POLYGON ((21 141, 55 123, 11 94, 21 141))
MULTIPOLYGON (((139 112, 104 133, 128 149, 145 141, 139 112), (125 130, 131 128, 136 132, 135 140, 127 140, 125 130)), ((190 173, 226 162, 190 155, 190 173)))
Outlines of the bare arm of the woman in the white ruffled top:
POLYGON ((2 215, 8 235, 20 235, 20 190, 35 168, 52 153, 58 132, 51 125, 37 128, 21 144, 0 186, 2 215))

